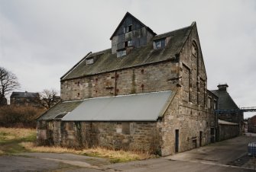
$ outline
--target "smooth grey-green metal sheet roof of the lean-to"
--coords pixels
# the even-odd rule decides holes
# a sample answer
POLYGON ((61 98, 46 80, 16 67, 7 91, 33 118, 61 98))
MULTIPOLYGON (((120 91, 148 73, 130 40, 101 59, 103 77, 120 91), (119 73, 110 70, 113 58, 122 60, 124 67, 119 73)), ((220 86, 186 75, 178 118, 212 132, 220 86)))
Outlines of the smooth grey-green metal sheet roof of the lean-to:
POLYGON ((173 91, 84 100, 64 121, 156 121, 170 104, 173 91))

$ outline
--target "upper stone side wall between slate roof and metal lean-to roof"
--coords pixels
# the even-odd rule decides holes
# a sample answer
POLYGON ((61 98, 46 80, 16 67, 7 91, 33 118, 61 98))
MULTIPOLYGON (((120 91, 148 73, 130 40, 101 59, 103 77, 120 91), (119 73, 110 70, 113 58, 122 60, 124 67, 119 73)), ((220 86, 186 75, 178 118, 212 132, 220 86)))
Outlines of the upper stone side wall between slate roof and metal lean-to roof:
POLYGON ((176 88, 178 72, 178 63, 162 62, 62 81, 61 98, 81 100, 90 97, 170 91, 176 88))

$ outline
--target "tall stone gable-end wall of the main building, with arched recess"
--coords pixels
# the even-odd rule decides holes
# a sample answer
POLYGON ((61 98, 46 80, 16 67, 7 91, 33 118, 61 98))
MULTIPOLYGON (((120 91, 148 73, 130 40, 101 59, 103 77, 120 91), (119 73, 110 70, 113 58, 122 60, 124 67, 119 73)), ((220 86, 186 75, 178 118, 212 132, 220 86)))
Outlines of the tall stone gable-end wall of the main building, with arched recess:
POLYGON ((213 106, 207 106, 207 78, 196 26, 181 50, 178 70, 180 88, 162 119, 162 155, 215 141, 216 119, 213 106))

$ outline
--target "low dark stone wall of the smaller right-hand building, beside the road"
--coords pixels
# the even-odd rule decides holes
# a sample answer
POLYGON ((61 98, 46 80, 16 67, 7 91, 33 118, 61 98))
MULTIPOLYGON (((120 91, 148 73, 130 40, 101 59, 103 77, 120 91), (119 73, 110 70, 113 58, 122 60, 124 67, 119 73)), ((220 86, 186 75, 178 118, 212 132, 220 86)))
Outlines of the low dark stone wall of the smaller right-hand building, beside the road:
POLYGON ((218 141, 231 139, 239 135, 238 125, 219 124, 218 141))

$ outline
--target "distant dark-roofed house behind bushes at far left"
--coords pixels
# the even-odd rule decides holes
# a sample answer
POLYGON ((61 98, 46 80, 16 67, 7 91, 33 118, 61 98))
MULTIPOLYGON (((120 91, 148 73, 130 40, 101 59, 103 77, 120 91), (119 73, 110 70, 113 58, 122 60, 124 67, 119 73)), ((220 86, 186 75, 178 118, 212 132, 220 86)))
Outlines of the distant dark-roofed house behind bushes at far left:
POLYGON ((32 92, 12 92, 10 104, 15 106, 34 106, 39 107, 39 94, 32 92))

